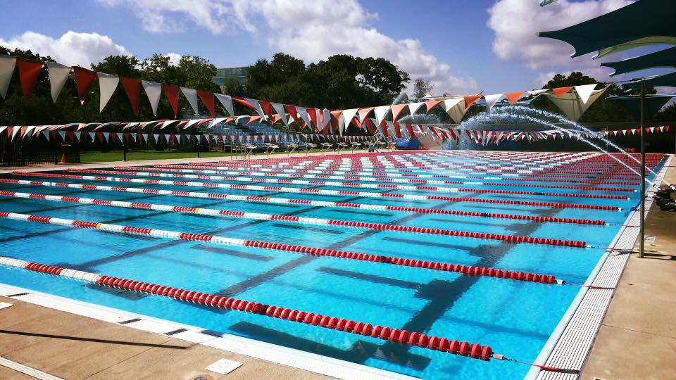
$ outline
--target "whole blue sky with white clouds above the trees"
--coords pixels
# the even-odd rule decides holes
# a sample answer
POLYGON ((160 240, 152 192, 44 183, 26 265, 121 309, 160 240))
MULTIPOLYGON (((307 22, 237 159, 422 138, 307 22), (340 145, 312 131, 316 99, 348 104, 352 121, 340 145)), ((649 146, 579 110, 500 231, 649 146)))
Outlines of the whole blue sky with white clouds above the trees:
MULTIPOLYGON (((24 0, 4 7, 0 44, 61 63, 87 65, 113 53, 208 58, 249 65, 277 51, 305 61, 334 53, 384 56, 434 93, 484 94, 541 87, 554 72, 608 80, 590 56, 538 39, 630 0, 24 0)), ((632 56, 630 53, 628 56, 632 56)), ((608 61, 618 58, 611 56, 608 61)), ((88 66, 88 65, 87 65, 88 66)))

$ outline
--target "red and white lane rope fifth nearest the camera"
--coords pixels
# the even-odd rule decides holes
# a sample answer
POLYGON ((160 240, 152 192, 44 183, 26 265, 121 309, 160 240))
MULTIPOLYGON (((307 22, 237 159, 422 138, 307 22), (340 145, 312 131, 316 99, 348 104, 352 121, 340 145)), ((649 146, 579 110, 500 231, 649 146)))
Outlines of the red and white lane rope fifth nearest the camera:
POLYGON ((535 207, 549 207, 549 208, 580 208, 585 210, 613 210, 620 211, 622 208, 608 205, 587 205, 577 203, 562 203, 562 202, 539 202, 539 201, 508 201, 504 199, 479 199, 468 197, 452 197, 452 196, 427 196, 414 194, 388 194, 374 191, 349 191, 349 190, 326 190, 326 189, 311 189, 311 188, 296 188, 283 186, 256 186, 246 184, 218 184, 214 182, 189 182, 189 181, 165 181, 161 179, 144 179, 144 178, 122 178, 122 177, 101 177, 89 175, 58 175, 42 172, 19 172, 11 173, 17 177, 48 177, 48 178, 70 178, 70 179, 87 179, 89 181, 107 181, 107 182, 128 182, 128 183, 142 183, 142 184, 165 184, 171 186, 192 186, 192 187, 208 187, 217 189, 237 189, 237 190, 251 190, 251 191, 284 191, 287 193, 299 194, 318 194, 327 196, 361 196, 364 198, 396 198, 402 200, 415 201, 449 201, 449 202, 467 202, 467 203, 493 203, 502 205, 525 205, 535 207))

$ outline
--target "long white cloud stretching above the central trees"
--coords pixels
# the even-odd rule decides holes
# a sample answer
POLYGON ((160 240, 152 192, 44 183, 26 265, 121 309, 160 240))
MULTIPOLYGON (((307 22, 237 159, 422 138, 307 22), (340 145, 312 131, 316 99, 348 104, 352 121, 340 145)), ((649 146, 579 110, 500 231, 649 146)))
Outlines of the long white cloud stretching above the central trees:
POLYGON ((475 80, 451 72, 447 63, 427 53, 418 39, 395 40, 368 27, 378 15, 366 11, 358 0, 99 1, 128 6, 151 32, 181 30, 175 25, 184 25, 181 17, 187 17, 212 33, 224 32, 227 25, 266 33, 273 50, 306 61, 316 62, 338 53, 387 58, 408 72, 412 80, 430 80, 435 93, 470 94, 479 89, 475 80), (261 21, 264 25, 257 25, 261 21))

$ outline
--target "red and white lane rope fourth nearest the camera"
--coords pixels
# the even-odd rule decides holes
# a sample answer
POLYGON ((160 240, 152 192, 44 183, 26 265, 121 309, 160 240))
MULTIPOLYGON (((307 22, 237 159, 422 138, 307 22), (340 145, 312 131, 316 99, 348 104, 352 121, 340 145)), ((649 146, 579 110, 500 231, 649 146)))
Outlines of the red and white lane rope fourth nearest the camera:
MULTIPOLYGON (((529 220, 532 222, 553 222, 553 223, 569 223, 569 224, 589 224, 589 225, 606 225, 603 220, 591 219, 572 219, 567 217, 542 217, 532 215, 518 215, 518 214, 501 214, 501 213, 477 213, 475 211, 458 211, 458 210, 440 210, 437 208, 414 208, 392 205, 370 205, 364 203, 346 203, 346 202, 330 202, 330 201, 311 201, 306 199, 293 198, 272 198, 267 196, 240 196, 234 194, 214 194, 201 193, 198 191, 173 191, 162 189, 144 189, 144 188, 127 188, 115 186, 101 186, 101 185, 87 185, 87 184, 70 184, 67 182, 42 182, 42 181, 26 181, 23 179, 1 179, 0 183, 8 184, 25 184, 32 186, 52 186, 52 187, 69 187, 72 189, 89 189, 99 191, 120 191, 125 193, 139 193, 139 194, 157 194, 165 196, 183 196, 187 198, 218 198, 228 201, 253 201, 258 203, 279 203, 279 204, 297 204, 297 205, 312 205, 323 208, 348 208, 348 209, 362 209, 370 211, 398 211, 403 213, 416 214, 439 214, 439 215, 458 215, 468 217, 488 217, 497 219, 510 220, 529 220)), ((59 195, 59 194, 53 194, 59 195)), ((611 225, 611 224, 608 224, 611 225)))

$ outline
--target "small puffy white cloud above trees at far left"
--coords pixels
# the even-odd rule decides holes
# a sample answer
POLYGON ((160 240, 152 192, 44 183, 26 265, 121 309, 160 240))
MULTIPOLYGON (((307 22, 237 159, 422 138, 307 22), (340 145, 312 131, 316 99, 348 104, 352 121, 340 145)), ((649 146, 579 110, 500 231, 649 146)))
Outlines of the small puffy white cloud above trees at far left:
POLYGON ((51 56, 58 63, 83 68, 89 68, 91 63, 99 63, 107 56, 131 55, 124 46, 113 43, 111 37, 72 30, 56 39, 29 30, 8 40, 0 38, 0 45, 9 49, 30 49, 42 56, 51 56))

